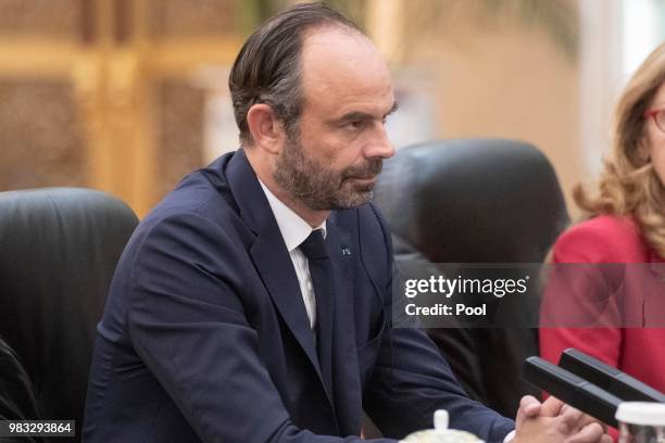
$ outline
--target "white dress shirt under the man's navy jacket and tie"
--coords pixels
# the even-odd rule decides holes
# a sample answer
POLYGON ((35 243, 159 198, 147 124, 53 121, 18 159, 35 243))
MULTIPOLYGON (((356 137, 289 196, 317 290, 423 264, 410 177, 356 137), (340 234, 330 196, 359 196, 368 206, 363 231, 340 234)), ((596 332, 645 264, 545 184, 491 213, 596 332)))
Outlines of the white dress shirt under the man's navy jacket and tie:
MULTIPOLYGON (((296 276, 298 277, 298 283, 300 284, 300 292, 302 300, 304 301, 305 311, 310 318, 310 327, 314 330, 316 326, 316 296, 314 294, 314 286, 312 284, 312 276, 310 275, 310 265, 308 257, 304 256, 300 250, 300 243, 305 241, 310 233, 314 230, 312 227, 302 219, 302 217, 293 212, 289 206, 284 204, 269 189, 259 180, 263 192, 268 200, 273 215, 277 220, 277 226, 284 238, 291 262, 293 262, 293 268, 296 268, 296 276)), ((316 229, 323 230, 323 236, 326 238, 326 221, 321 224, 316 229)))

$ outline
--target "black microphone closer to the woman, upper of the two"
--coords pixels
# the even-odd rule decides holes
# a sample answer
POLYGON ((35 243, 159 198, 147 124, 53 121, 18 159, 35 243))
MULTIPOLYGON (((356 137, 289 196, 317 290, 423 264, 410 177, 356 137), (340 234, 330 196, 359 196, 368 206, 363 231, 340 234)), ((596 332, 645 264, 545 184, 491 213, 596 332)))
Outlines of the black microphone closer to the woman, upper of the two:
POLYGON ((603 362, 568 347, 561 354, 559 366, 589 380, 624 402, 665 403, 665 394, 603 362))

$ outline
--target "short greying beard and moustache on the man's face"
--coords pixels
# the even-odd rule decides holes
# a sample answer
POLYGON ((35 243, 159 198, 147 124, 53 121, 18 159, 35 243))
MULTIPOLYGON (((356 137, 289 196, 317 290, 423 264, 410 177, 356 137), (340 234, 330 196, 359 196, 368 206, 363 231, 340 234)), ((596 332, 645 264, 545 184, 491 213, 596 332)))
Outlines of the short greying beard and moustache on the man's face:
POLYGON ((376 177, 381 172, 381 159, 332 170, 314 159, 306 159, 298 138, 298 134, 288 135, 284 152, 275 164, 273 176, 284 190, 314 211, 348 210, 372 200, 374 183, 352 179, 376 177))

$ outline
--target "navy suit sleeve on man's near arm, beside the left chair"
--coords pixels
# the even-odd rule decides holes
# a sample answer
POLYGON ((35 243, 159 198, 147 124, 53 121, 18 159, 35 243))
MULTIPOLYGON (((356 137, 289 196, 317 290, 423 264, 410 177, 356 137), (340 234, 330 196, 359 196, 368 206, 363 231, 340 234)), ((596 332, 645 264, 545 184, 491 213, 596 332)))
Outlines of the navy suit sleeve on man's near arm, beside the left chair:
POLYGON ((196 213, 152 227, 130 279, 137 353, 204 442, 360 442, 290 421, 244 315, 237 250, 218 224, 196 213))

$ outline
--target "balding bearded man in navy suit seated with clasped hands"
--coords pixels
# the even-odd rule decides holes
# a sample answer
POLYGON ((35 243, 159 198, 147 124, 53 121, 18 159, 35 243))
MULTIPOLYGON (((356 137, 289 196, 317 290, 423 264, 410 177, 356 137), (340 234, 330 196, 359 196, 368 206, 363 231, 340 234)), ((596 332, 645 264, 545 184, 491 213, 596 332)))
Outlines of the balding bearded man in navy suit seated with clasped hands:
MULTIPOLYGON (((250 37, 229 86, 242 148, 186 177, 117 266, 86 440, 355 442, 363 409, 402 438, 446 408, 503 441, 515 423, 468 400, 422 331, 391 328, 390 237, 368 201, 396 103, 374 46, 298 5, 250 37)), ((560 408, 525 400, 515 441, 600 439, 560 408)))

